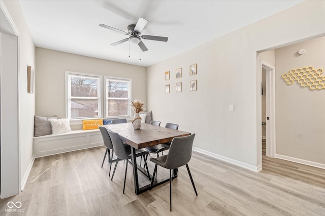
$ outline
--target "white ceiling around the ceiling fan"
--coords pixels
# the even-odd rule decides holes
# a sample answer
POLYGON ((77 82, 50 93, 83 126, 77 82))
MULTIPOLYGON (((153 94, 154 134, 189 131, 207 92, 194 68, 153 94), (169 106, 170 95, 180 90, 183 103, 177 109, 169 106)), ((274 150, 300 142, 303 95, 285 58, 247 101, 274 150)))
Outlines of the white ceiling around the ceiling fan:
POLYGON ((36 47, 150 66, 219 36, 299 4, 301 0, 267 1, 31 1, 20 0, 36 47), (144 40, 149 51, 103 23, 127 31, 139 17, 148 20, 142 34, 167 36, 168 42, 144 40))

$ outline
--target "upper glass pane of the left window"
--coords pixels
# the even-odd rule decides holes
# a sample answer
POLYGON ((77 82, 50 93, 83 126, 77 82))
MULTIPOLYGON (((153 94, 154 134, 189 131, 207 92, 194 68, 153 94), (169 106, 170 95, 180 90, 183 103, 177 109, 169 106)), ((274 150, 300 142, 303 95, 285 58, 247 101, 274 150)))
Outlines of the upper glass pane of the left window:
POLYGON ((97 79, 72 77, 71 96, 72 97, 97 97, 97 79))

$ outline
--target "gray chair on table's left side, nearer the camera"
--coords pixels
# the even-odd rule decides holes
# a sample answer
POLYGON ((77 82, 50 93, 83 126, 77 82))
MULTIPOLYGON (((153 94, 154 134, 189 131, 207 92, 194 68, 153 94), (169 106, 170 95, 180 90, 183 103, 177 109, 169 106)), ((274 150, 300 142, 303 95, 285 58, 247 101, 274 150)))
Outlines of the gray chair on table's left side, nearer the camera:
MULTIPOLYGON (((123 185, 123 193, 124 193, 126 172, 127 172, 127 163, 128 163, 128 159, 131 159, 131 149, 124 148, 123 141, 121 140, 120 136, 117 133, 108 131, 108 134, 109 134, 109 136, 110 136, 110 138, 112 140, 115 155, 117 156, 117 160, 116 160, 116 163, 115 163, 115 167, 114 167, 114 171, 113 171, 113 175, 112 175, 112 179, 111 179, 112 181, 113 181, 113 177, 114 177, 114 174, 115 174, 115 170, 116 170, 118 161, 120 159, 126 160, 124 185, 123 185)), ((136 157, 141 157, 141 156, 145 157, 145 155, 148 155, 148 154, 149 154, 148 152, 143 151, 141 149, 136 150, 136 157)), ((148 174, 147 177, 149 178, 149 180, 151 180, 146 160, 144 161, 144 163, 145 163, 145 167, 147 168, 147 174, 148 174)))

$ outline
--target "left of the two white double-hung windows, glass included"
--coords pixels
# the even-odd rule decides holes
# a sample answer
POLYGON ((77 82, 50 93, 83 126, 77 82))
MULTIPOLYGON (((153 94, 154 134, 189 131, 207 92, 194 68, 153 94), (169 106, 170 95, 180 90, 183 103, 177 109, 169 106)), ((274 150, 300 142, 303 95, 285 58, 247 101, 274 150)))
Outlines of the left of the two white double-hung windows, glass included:
POLYGON ((101 116, 101 76, 66 72, 67 117, 98 118, 101 116))

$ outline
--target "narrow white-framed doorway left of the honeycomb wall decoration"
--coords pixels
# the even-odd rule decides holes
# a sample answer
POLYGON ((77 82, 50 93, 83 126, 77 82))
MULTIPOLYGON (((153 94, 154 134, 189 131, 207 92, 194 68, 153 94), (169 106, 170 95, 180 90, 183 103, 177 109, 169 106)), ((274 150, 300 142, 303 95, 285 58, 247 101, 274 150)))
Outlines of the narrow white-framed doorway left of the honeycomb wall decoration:
MULTIPOLYGON (((275 157, 275 67, 265 61, 262 68, 262 152, 275 157), (265 149, 264 145, 265 144, 265 149)), ((262 154, 261 152, 261 154, 262 154)))

